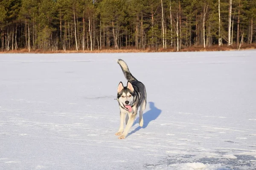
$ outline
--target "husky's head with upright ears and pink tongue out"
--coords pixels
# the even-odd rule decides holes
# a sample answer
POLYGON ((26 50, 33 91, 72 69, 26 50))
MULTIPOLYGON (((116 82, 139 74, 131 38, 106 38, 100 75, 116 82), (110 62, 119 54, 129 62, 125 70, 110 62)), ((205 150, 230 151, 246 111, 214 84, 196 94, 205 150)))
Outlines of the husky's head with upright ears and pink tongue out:
POLYGON ((130 82, 124 87, 122 82, 119 83, 117 88, 117 101, 127 111, 131 111, 131 105, 134 101, 134 88, 130 82))

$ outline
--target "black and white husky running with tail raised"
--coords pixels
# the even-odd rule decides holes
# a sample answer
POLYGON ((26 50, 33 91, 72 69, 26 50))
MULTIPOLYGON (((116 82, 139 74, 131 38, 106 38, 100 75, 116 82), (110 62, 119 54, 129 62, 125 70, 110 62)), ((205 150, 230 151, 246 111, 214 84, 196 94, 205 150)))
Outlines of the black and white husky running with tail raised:
POLYGON ((117 88, 117 101, 120 108, 120 127, 115 135, 119 136, 118 139, 125 139, 128 131, 134 123, 139 107, 139 124, 141 127, 143 126, 143 111, 146 108, 147 94, 145 85, 131 75, 127 64, 122 59, 118 59, 117 63, 121 66, 128 82, 126 87, 124 87, 122 82, 120 82, 117 88), (125 130, 124 122, 126 122, 125 130))

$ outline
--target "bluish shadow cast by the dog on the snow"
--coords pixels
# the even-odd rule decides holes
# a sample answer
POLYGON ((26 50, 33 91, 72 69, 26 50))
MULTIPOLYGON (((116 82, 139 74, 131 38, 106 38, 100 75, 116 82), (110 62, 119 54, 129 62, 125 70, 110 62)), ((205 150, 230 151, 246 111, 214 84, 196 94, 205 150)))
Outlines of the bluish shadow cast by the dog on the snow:
MULTIPOLYGON (((137 127, 136 129, 134 129, 133 131, 131 131, 130 133, 128 133, 127 136, 130 136, 131 134, 137 132, 138 130, 140 130, 141 128, 146 128, 148 126, 148 124, 152 121, 157 119, 157 117, 160 115, 160 113, 162 112, 162 110, 158 109, 155 107, 154 102, 148 102, 149 103, 149 108, 150 110, 143 113, 143 127, 137 127)), ((137 117, 137 119, 134 121, 134 125, 137 124, 137 122, 139 121, 139 116, 137 117)))

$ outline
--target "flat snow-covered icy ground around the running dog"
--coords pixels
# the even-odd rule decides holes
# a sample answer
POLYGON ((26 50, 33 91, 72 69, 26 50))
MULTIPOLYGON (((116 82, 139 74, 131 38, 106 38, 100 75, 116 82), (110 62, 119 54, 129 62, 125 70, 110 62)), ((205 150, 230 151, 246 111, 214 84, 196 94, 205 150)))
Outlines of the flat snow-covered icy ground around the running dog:
POLYGON ((256 51, 0 54, 0 170, 255 170, 256 51), (145 84, 119 128, 116 59, 145 84))

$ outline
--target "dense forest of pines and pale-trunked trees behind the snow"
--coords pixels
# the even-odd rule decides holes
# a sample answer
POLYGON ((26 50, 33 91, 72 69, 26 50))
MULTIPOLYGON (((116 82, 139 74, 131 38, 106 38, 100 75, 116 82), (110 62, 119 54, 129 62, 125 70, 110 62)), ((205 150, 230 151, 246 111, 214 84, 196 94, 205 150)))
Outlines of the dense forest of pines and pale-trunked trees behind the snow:
POLYGON ((240 48, 255 23, 256 0, 1 0, 0 50, 240 48))

